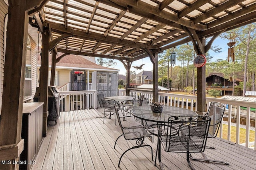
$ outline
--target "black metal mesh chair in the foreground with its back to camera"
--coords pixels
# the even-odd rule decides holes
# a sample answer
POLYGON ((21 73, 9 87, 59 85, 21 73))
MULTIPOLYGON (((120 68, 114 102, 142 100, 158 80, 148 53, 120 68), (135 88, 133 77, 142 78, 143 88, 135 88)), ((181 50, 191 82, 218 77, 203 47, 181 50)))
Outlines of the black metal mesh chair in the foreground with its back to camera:
POLYGON ((168 124, 162 125, 158 132, 164 150, 166 152, 185 152, 187 162, 193 170, 189 155, 193 152, 204 152, 210 119, 208 116, 169 117, 168 124), (164 130, 161 131, 161 129, 164 130))

